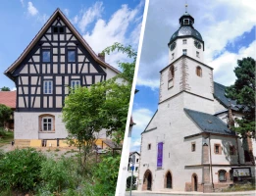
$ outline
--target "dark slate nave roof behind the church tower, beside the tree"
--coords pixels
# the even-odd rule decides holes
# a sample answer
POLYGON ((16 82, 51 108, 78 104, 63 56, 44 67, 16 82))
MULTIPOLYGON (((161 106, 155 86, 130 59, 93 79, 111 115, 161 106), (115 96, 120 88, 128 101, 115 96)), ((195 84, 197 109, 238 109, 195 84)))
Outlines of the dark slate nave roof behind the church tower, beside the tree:
POLYGON ((214 97, 225 107, 229 108, 231 104, 231 109, 238 111, 242 106, 236 104, 235 100, 230 100, 225 96, 226 86, 217 82, 214 82, 214 97))

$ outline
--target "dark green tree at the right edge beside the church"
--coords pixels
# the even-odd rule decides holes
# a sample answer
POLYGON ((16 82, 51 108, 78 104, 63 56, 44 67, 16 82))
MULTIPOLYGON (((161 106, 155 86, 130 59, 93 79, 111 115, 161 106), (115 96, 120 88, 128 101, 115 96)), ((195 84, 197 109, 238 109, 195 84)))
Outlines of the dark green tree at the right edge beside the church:
POLYGON ((237 67, 233 71, 237 77, 234 84, 226 88, 227 97, 236 100, 241 105, 241 120, 235 120, 239 126, 233 129, 246 137, 255 137, 255 60, 251 57, 237 60, 237 67))

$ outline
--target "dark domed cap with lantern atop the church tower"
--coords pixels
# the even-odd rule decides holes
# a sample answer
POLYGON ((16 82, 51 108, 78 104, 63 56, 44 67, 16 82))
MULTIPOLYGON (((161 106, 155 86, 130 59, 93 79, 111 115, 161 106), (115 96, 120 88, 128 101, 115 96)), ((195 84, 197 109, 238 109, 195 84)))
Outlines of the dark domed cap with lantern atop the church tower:
POLYGON ((194 18, 185 12, 179 18, 179 29, 171 36, 168 46, 179 37, 192 36, 200 41, 203 41, 201 34, 194 28, 194 18))

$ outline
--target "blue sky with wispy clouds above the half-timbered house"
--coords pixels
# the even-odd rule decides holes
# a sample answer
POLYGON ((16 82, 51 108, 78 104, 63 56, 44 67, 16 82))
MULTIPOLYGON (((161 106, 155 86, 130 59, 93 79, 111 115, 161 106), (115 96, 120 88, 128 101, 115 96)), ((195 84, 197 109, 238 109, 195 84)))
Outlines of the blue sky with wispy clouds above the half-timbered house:
MULTIPOLYGON (((3 0, 0 2, 0 87, 14 89, 3 73, 26 49, 42 25, 60 8, 98 53, 114 42, 137 49, 143 17, 143 0, 3 0)), ((114 53, 106 62, 117 67, 125 55, 114 53)))

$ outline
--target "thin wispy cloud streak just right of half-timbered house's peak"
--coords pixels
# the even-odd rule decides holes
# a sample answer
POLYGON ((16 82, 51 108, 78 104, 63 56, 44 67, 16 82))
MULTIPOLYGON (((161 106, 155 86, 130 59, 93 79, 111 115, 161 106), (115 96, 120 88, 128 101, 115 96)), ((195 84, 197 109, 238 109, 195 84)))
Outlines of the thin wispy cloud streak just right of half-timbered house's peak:
POLYGON ((84 32, 87 25, 101 17, 103 10, 103 3, 97 1, 92 7, 84 11, 80 21, 78 22, 79 29, 84 32))

